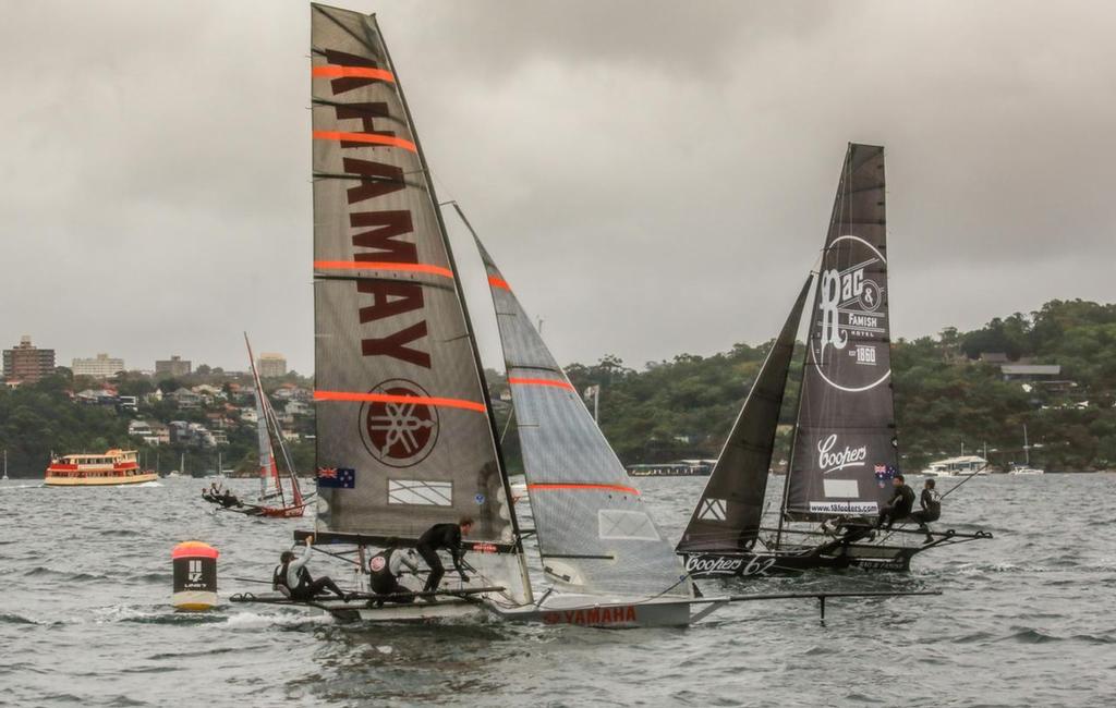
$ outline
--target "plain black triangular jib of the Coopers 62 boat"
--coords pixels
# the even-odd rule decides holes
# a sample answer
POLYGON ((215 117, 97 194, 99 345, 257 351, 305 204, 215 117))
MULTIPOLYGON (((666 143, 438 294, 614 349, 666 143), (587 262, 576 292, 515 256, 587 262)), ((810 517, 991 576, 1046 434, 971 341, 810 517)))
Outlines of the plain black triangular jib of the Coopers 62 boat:
POLYGON ((795 336, 809 290, 807 278, 721 448, 679 542, 680 552, 744 551, 756 541, 795 336))

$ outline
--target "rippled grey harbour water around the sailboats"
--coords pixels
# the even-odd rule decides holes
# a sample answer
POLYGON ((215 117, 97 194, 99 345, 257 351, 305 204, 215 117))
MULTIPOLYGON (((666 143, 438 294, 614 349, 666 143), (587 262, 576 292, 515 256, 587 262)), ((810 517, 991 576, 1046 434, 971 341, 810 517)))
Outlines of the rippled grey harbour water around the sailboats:
MULTIPOLYGON (((701 478, 639 486, 676 539, 701 478)), ((944 481, 942 488, 949 488, 944 481)), ((237 482, 248 492, 250 483, 237 482)), ((940 526, 994 541, 849 571, 720 585, 937 589, 743 603, 684 630, 462 621, 344 625, 287 608, 170 607, 171 549, 221 551, 221 594, 259 590, 306 521, 214 514, 201 482, 0 483, 0 705, 1116 705, 1116 475, 977 478, 940 526)), ((318 556, 316 574, 352 578, 318 556)))

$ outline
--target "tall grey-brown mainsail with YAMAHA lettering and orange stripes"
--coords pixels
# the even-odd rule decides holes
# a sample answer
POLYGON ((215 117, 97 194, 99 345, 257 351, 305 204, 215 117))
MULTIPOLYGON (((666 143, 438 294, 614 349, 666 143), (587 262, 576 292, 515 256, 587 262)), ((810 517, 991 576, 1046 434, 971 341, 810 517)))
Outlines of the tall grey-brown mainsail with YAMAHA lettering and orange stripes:
MULTIPOLYGON (((430 173, 374 17, 311 6, 317 530, 518 550, 430 173)), ((474 547, 475 550, 475 547, 474 547)))

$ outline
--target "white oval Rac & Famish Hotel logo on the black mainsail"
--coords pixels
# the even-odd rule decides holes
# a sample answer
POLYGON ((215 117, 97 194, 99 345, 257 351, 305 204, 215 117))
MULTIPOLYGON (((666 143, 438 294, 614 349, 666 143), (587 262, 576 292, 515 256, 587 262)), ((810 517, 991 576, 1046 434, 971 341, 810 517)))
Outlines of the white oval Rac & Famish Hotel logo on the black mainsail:
POLYGON ((878 356, 888 342, 884 287, 875 278, 887 265, 883 253, 859 236, 834 239, 821 261, 816 329, 810 357, 829 386, 865 391, 883 384, 878 356))

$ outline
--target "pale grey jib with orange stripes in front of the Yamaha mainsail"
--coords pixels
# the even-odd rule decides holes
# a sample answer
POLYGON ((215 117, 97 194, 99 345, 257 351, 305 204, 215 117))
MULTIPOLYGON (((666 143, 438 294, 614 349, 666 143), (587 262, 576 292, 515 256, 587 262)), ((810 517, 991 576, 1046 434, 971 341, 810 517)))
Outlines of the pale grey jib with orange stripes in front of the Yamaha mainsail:
POLYGON ((639 491, 480 241, 478 248, 548 578, 587 593, 691 597, 682 564, 639 491))

